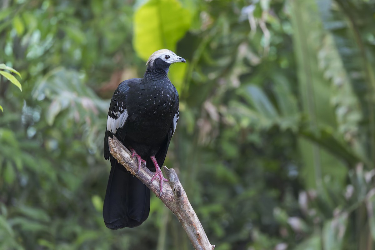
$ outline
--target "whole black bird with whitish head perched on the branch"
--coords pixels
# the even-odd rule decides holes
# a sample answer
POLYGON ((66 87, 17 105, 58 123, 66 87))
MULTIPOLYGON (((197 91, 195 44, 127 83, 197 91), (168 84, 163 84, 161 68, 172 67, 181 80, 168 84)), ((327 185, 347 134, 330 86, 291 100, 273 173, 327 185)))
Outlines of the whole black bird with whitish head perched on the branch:
POLYGON ((179 62, 186 60, 168 49, 155 51, 147 60, 143 78, 121 82, 113 94, 104 136, 104 158, 111 162, 103 205, 107 228, 134 228, 150 213, 150 189, 111 155, 108 137, 116 136, 132 159, 136 157, 138 172, 141 164, 154 172, 151 181, 159 180, 162 195, 163 181, 168 180, 160 166, 180 115, 178 92, 168 71, 171 64, 179 62))

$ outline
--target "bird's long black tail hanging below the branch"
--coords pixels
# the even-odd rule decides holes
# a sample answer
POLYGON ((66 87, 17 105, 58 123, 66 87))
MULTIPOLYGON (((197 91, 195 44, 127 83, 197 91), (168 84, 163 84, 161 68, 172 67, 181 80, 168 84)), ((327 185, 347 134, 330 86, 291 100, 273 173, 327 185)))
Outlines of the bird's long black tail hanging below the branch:
POLYGON ((107 228, 134 228, 150 213, 150 189, 110 157, 111 173, 105 193, 103 217, 107 228))

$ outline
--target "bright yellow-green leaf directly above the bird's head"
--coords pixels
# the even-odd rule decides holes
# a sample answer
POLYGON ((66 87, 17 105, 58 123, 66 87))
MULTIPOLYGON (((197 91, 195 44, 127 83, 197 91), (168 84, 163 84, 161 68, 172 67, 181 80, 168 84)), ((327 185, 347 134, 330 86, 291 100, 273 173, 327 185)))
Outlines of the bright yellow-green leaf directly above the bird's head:
MULTIPOLYGON (((191 13, 177 0, 150 0, 139 7, 133 17, 133 46, 147 61, 158 49, 175 50, 191 24, 191 13)), ((175 51, 174 51, 175 52, 175 51)))

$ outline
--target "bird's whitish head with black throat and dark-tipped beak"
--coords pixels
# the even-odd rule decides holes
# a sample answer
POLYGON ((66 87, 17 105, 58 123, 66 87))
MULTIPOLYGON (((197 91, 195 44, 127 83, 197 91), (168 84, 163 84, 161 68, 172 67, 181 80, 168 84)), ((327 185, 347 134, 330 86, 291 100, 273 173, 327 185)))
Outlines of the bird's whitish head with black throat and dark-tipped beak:
POLYGON ((172 63, 186 63, 186 60, 169 49, 160 49, 148 58, 147 71, 163 70, 167 74, 172 63))

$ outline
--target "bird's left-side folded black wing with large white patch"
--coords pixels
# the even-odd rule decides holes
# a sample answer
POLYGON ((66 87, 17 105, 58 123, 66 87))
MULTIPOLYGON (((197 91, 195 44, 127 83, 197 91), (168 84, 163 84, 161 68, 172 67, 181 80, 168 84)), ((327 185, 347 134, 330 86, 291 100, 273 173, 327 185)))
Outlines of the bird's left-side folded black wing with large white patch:
POLYGON ((141 79, 132 78, 123 81, 118 85, 115 93, 112 96, 110 110, 107 116, 107 129, 104 135, 104 157, 109 159, 111 153, 108 145, 108 136, 115 135, 120 141, 123 141, 126 136, 126 123, 129 113, 126 109, 126 97, 129 92, 129 85, 137 84, 141 79))

